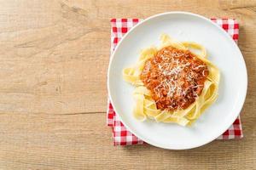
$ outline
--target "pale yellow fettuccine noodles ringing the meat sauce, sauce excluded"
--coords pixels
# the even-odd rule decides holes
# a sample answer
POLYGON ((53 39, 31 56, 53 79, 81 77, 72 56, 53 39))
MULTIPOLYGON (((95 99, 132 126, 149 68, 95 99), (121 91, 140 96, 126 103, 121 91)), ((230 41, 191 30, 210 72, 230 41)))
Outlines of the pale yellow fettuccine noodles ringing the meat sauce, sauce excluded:
POLYGON ((139 121, 149 118, 156 122, 175 122, 182 126, 191 125, 218 97, 218 68, 207 59, 206 49, 198 43, 177 42, 166 34, 163 34, 160 40, 160 48, 150 47, 143 49, 137 64, 123 70, 124 80, 136 86, 133 93, 136 102, 133 116, 139 121), (179 108, 173 111, 158 109, 157 102, 153 99, 152 93, 146 88, 140 77, 146 61, 153 58, 161 48, 168 46, 182 50, 194 49, 199 51, 199 53, 193 54, 207 65, 209 71, 201 94, 195 99, 195 102, 185 109, 179 108))

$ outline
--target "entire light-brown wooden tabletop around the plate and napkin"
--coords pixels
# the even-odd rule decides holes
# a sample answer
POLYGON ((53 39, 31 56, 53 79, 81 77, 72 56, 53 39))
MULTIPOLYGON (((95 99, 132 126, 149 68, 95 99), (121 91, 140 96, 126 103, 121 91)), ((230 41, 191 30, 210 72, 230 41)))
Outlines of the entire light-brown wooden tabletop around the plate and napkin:
POLYGON ((253 0, 1 0, 0 43, 0 169, 256 168, 253 0), (106 127, 109 20, 172 10, 239 21, 249 78, 245 137, 194 150, 114 147, 106 127))

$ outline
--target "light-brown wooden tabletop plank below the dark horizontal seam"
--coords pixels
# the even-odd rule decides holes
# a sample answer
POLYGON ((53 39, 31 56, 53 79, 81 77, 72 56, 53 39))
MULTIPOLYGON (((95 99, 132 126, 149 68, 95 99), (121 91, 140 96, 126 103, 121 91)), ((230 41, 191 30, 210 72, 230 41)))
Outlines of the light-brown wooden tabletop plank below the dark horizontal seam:
MULTIPOLYGON (((162 150, 148 144, 119 147, 113 146, 105 118, 101 113, 4 114, 0 116, 0 168, 253 169, 255 165, 253 133, 194 150, 162 150)), ((250 119, 244 128, 252 128, 253 123, 250 119)))

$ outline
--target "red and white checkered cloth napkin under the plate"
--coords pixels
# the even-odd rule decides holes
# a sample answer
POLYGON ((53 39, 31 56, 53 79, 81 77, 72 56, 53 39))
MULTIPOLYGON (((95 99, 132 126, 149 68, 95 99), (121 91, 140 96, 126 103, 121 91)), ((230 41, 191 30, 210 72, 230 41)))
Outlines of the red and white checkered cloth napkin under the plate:
MULTIPOLYGON (((113 19, 111 20, 111 53, 120 39, 125 35, 132 26, 137 25, 141 19, 113 19)), ((238 40, 239 25, 233 19, 212 19, 218 26, 221 26, 227 31, 235 42, 238 40)), ((130 144, 143 144, 143 140, 138 139, 134 134, 129 132, 126 127, 120 122, 118 115, 113 111, 111 102, 108 100, 107 112, 108 126, 113 127, 113 144, 114 145, 130 145, 130 144)), ((226 130, 218 139, 241 139, 243 137, 241 129, 240 116, 236 121, 226 130)))

